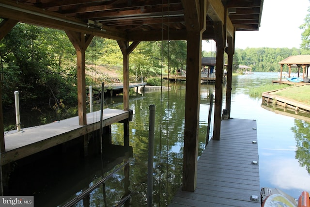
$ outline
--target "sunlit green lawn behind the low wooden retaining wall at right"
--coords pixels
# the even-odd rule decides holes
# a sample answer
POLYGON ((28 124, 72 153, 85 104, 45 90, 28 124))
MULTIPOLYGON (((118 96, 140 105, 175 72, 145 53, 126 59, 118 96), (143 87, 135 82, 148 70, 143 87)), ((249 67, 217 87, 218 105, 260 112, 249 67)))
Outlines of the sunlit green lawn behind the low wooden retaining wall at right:
POLYGON ((310 85, 285 88, 271 94, 294 99, 298 102, 310 105, 310 85))

